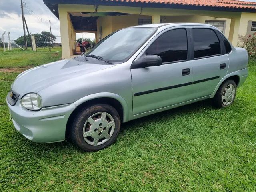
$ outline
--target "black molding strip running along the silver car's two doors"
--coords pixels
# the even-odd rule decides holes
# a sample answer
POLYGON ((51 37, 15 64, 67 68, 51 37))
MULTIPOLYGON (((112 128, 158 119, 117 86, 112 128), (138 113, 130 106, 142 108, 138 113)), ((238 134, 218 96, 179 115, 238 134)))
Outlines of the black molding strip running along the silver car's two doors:
POLYGON ((142 91, 142 92, 135 93, 134 97, 149 94, 149 93, 154 93, 154 92, 158 92, 158 91, 164 91, 164 90, 168 90, 168 89, 173 89, 173 88, 183 87, 183 86, 187 86, 187 85, 192 85, 192 84, 196 84, 196 83, 201 83, 201 82, 205 82, 205 81, 210 81, 210 80, 214 80, 214 79, 218 79, 218 78, 220 78, 220 76, 211 77, 211 78, 207 78, 207 79, 202 79, 202 80, 198 80, 198 81, 194 81, 194 82, 188 82, 188 83, 183 83, 183 84, 158 88, 158 89, 152 89, 152 90, 148 90, 148 91, 142 91))

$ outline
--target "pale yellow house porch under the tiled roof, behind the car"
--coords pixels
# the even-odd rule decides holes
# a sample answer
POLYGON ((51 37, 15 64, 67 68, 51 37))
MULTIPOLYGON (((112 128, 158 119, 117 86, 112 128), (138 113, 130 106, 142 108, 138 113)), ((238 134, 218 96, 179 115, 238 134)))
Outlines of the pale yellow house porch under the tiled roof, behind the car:
MULTIPOLYGON (((231 10, 231 9, 230 9, 231 10)), ((138 24, 168 22, 217 23, 224 35, 237 46, 238 35, 250 32, 255 12, 192 9, 58 4, 62 56, 70 58, 76 50, 76 33, 95 33, 96 42, 108 34, 138 24)))

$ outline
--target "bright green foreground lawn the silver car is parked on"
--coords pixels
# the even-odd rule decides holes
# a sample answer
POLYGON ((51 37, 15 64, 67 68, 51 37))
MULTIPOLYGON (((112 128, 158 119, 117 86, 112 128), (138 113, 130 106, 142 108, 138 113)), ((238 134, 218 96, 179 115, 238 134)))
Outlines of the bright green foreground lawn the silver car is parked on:
POLYGON ((18 73, 2 72, 0 191, 254 192, 256 62, 249 72, 232 106, 204 101, 133 120, 122 124, 112 146, 92 153, 18 133, 6 106, 18 73))

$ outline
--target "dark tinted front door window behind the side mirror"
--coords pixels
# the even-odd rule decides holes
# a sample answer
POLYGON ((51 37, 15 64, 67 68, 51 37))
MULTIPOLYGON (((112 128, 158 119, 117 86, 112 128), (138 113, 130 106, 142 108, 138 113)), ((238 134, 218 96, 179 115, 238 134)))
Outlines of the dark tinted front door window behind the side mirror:
POLYGON ((163 62, 187 59, 187 33, 185 29, 170 30, 156 39, 146 50, 146 55, 158 55, 163 62))

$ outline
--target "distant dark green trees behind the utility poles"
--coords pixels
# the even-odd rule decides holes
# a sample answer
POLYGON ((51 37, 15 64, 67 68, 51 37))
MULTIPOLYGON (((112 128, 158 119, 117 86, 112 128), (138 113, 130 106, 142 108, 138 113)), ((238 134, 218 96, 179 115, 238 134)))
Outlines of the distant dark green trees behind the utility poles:
MULTIPOLYGON (((42 31, 41 34, 33 34, 35 36, 36 46, 38 47, 46 47, 51 46, 51 34, 47 31, 42 31)), ((28 47, 31 47, 31 39, 27 35, 27 44, 28 47)), ((54 41, 56 39, 56 36, 52 35, 52 40, 54 41)), ((18 45, 24 46, 24 36, 20 36, 16 40, 14 40, 18 45)))

